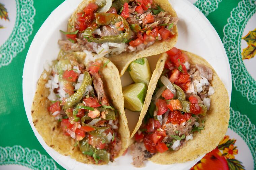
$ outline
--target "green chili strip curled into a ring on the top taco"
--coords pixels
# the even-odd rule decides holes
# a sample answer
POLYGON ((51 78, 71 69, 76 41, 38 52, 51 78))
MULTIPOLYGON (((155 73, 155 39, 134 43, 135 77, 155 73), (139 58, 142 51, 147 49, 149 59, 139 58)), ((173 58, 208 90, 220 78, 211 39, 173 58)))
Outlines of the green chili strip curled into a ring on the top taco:
POLYGON ((95 42, 95 43, 106 43, 106 42, 112 42, 112 43, 122 43, 125 39, 129 40, 131 37, 131 29, 128 24, 128 22, 118 14, 114 13, 95 13, 96 17, 96 25, 93 23, 91 27, 88 27, 84 32, 84 37, 88 39, 88 41, 95 42), (110 25, 122 21, 125 29, 125 33, 121 33, 116 36, 104 36, 101 38, 94 38, 90 37, 93 33, 93 31, 99 27, 99 25, 110 25))

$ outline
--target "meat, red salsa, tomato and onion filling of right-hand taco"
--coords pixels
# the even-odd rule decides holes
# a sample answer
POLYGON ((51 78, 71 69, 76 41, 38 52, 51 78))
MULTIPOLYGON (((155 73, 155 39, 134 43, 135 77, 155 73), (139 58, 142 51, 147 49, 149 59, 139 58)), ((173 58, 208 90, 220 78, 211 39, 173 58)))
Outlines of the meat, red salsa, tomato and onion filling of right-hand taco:
POLYGON ((209 67, 190 65, 188 56, 175 47, 166 53, 168 59, 163 75, 142 125, 135 134, 136 142, 131 146, 133 165, 136 167, 143 166, 144 160, 158 152, 179 150, 187 140, 193 139, 195 132, 203 130, 203 117, 210 109, 211 99, 208 96, 214 94, 208 81, 213 75, 209 67), (202 90, 192 90, 191 86, 200 86, 202 90))

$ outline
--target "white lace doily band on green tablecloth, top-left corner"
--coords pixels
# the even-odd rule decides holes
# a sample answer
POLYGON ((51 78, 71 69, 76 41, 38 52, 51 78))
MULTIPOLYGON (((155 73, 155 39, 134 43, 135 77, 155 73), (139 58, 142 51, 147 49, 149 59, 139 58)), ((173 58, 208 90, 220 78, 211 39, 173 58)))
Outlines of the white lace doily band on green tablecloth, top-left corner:
POLYGON ((16 19, 10 37, 0 47, 0 67, 8 65, 24 48, 32 34, 35 16, 33 0, 15 0, 16 19))

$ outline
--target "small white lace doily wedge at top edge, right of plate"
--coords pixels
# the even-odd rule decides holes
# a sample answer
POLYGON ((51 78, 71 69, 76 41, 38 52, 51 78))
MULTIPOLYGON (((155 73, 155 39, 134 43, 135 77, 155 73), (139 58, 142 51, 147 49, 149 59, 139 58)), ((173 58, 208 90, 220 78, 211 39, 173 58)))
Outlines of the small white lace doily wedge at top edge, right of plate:
POLYGON ((222 0, 198 0, 194 3, 194 5, 200 9, 200 11, 208 16, 209 13, 215 11, 218 8, 219 3, 222 0))

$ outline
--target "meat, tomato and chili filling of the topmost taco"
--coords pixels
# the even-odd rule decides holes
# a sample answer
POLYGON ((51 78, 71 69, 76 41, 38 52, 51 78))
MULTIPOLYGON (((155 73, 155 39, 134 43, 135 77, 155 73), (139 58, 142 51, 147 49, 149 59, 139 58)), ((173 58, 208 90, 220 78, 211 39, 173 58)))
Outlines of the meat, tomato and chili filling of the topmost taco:
POLYGON ((76 14, 71 31, 62 32, 69 41, 59 40, 59 45, 64 51, 86 50, 103 56, 140 51, 172 38, 177 22, 152 0, 97 0, 76 14), (98 50, 101 47, 104 54, 98 50))

